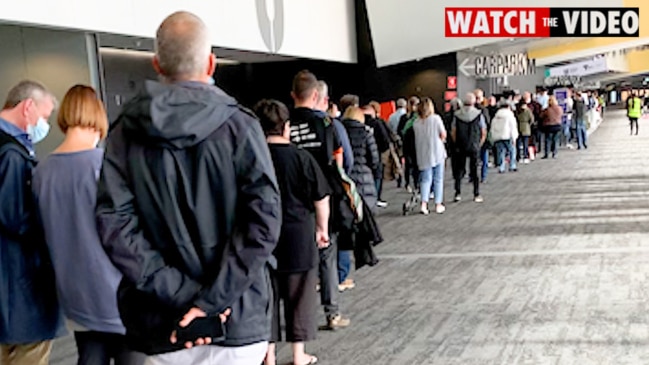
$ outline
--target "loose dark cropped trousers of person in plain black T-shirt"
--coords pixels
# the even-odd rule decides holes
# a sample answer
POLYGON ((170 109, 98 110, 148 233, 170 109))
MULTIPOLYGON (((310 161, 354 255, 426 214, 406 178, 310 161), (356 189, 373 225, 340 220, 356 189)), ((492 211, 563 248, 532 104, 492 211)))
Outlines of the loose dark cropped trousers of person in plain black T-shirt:
POLYGON ((315 340, 317 333, 316 312, 318 294, 318 269, 296 273, 273 273, 273 332, 271 342, 282 340, 280 324, 280 301, 284 302, 286 341, 306 342, 315 340))

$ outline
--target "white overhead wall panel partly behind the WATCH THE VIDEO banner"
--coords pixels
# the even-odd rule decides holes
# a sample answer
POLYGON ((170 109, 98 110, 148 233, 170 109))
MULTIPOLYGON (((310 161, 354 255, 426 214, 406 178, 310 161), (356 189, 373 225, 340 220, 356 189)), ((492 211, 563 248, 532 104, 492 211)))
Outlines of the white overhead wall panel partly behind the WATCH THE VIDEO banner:
MULTIPOLYGON (((502 38, 446 38, 445 7, 521 7, 520 0, 366 0, 379 67, 459 51, 502 38)), ((622 0, 544 0, 527 6, 616 7, 622 0)))

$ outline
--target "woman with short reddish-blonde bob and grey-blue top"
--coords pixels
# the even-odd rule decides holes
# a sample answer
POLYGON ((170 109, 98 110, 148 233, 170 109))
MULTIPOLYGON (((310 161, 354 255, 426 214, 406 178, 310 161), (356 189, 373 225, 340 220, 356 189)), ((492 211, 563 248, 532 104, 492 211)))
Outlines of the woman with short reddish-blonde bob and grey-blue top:
POLYGON ((144 355, 126 347, 117 310, 122 276, 102 248, 95 223, 104 155, 97 143, 108 133, 106 111, 93 88, 76 85, 63 98, 57 122, 65 139, 36 167, 33 189, 78 364, 142 364, 144 355))

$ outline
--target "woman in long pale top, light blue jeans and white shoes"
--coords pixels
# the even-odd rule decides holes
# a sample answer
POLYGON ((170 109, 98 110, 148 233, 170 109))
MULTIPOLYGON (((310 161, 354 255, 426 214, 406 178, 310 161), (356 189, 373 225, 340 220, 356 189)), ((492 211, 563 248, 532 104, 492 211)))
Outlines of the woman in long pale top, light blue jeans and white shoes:
POLYGON ((421 213, 428 215, 431 191, 435 199, 435 212, 442 214, 444 207, 444 165, 446 162, 446 128, 442 118, 435 114, 430 98, 423 98, 417 109, 419 118, 413 125, 415 150, 421 189, 421 213), (431 189, 432 187, 432 189, 431 189))

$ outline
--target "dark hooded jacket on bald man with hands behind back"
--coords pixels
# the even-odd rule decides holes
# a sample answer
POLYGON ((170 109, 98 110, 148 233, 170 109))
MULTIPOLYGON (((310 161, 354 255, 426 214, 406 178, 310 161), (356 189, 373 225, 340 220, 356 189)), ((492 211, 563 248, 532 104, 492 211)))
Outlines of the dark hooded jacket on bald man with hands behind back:
POLYGON ((169 336, 194 306, 214 321, 232 309, 220 345, 270 338, 279 189, 259 123, 233 98, 148 82, 111 126, 97 199, 131 347, 182 348, 169 336))

